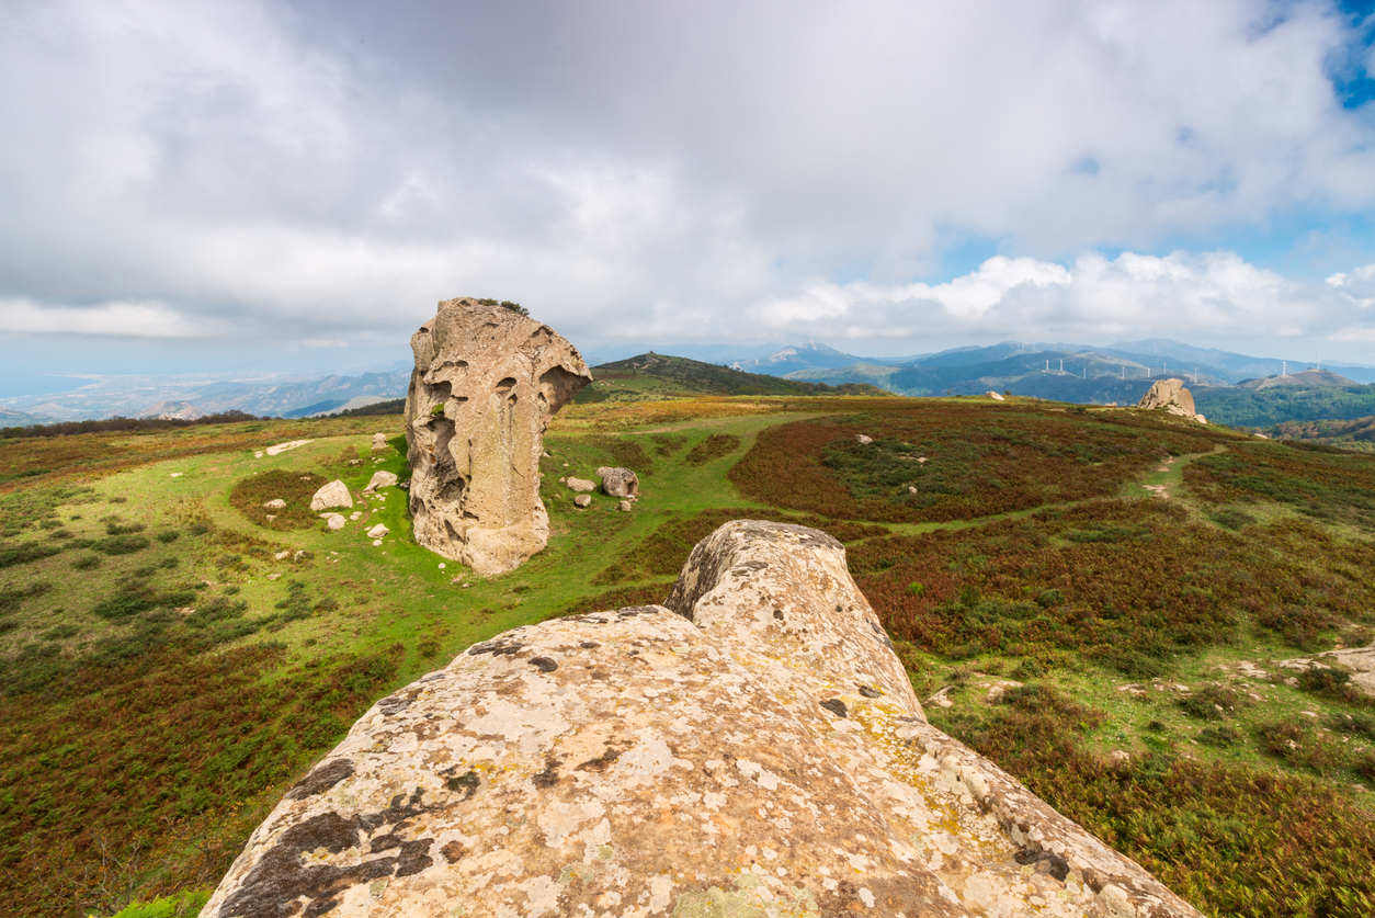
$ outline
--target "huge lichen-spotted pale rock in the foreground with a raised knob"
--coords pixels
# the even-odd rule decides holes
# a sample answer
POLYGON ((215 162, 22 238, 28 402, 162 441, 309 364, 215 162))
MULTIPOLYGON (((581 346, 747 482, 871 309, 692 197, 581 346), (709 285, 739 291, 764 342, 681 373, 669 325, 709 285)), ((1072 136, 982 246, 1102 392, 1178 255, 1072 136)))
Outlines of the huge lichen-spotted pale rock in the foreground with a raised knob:
POLYGON ((1198 915, 925 723, 844 549, 738 520, 666 607, 378 702, 202 918, 1198 915))

